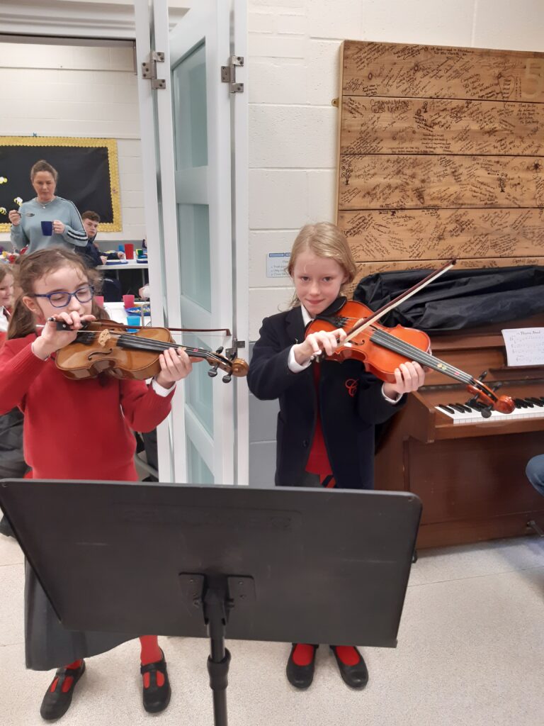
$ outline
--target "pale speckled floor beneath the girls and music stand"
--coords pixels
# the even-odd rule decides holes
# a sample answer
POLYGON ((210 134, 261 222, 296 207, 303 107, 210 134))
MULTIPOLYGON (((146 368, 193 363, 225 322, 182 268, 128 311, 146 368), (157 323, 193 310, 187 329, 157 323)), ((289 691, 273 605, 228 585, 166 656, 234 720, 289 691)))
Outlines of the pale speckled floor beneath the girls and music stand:
MULTIPOLYGON (((26 671, 22 554, 0 537, 0 724, 44 724, 47 673, 26 671)), ((211 726, 207 643, 161 638, 173 697, 140 703, 136 642, 88 661, 63 726, 211 726)), ((326 648, 306 692, 284 677, 287 645, 231 641, 231 726, 542 726, 544 540, 498 541, 420 553, 396 649, 366 648, 370 682, 350 691, 326 648)))

